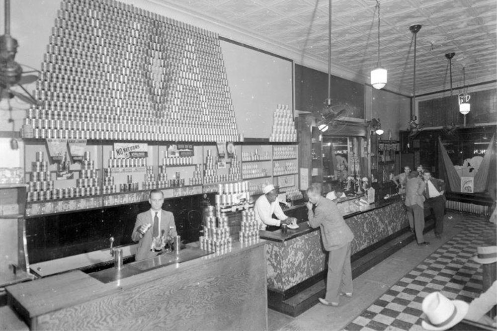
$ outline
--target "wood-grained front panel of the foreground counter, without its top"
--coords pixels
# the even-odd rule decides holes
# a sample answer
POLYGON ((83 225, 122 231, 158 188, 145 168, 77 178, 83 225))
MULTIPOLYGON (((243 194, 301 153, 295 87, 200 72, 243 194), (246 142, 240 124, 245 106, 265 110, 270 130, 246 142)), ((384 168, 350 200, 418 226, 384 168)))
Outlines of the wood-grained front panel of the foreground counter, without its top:
POLYGON ((39 330, 266 330, 264 245, 38 317, 39 330))

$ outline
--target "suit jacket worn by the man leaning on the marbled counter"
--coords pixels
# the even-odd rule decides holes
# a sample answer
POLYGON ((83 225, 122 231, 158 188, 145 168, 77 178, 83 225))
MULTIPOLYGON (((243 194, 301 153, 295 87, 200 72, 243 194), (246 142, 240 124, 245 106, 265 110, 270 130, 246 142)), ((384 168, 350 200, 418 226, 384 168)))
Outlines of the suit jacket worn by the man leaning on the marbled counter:
POLYGON ((354 234, 345 223, 336 203, 320 197, 314 212, 307 214, 311 228, 320 227, 323 246, 326 250, 338 249, 354 239, 354 234))

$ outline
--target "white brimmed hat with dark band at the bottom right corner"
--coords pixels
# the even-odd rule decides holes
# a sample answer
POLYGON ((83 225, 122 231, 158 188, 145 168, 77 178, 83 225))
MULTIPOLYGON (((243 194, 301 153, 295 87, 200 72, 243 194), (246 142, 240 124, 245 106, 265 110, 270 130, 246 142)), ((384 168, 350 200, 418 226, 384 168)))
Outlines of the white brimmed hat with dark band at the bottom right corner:
POLYGON ((469 305, 461 300, 449 300, 440 292, 428 294, 422 303, 428 321, 422 321, 425 330, 447 330, 461 322, 468 313, 469 305))

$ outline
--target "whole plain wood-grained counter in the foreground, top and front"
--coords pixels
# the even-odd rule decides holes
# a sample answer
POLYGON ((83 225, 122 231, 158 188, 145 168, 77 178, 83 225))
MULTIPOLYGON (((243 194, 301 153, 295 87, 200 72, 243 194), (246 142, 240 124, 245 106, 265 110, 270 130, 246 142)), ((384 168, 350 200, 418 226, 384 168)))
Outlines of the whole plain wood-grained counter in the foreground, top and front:
POLYGON ((82 271, 6 288, 31 330, 266 330, 265 241, 103 284, 82 271))

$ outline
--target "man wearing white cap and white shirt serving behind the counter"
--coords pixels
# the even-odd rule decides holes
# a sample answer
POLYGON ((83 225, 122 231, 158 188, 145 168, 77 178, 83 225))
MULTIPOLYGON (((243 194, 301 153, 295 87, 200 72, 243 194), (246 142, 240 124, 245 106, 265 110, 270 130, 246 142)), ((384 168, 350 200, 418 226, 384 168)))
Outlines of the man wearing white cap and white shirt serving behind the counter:
POLYGON ((255 219, 260 230, 265 230, 267 226, 281 226, 281 222, 292 224, 294 218, 287 217, 281 209, 278 201, 278 192, 273 184, 268 184, 262 188, 263 195, 255 201, 255 219), (276 218, 273 218, 273 215, 276 218))

